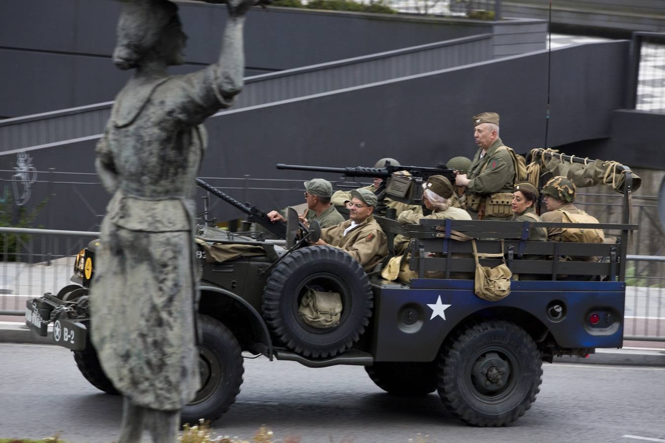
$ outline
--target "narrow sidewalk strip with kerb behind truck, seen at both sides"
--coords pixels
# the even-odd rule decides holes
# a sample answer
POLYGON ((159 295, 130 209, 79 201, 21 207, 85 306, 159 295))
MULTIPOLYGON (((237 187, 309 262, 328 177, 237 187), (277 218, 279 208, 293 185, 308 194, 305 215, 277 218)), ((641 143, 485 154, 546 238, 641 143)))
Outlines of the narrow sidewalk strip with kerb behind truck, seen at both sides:
MULTIPOLYGON (((52 345, 53 340, 51 339, 51 331, 49 331, 49 337, 39 337, 39 335, 32 333, 25 325, 0 324, 0 343, 32 343, 38 345, 52 345)), ((569 357, 565 355, 563 357, 555 357, 554 362, 592 365, 665 367, 665 349, 642 347, 624 347, 623 349, 596 349, 595 354, 591 354, 586 358, 569 357)))

